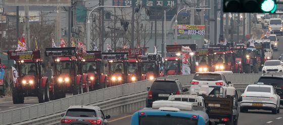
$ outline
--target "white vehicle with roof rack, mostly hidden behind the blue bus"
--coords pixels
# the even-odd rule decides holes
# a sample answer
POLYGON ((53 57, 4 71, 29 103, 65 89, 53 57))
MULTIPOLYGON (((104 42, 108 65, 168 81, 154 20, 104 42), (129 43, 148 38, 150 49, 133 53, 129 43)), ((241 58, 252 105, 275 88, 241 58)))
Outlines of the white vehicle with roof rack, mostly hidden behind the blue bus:
POLYGON ((206 112, 208 109, 205 107, 204 98, 198 95, 171 95, 168 98, 169 101, 182 101, 192 102, 194 110, 200 110, 206 112))

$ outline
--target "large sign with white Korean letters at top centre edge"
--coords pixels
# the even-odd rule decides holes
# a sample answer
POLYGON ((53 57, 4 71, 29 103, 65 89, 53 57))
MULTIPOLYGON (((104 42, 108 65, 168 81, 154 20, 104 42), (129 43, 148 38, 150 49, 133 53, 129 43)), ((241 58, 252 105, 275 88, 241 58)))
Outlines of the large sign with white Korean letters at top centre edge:
MULTIPOLYGON (((137 6, 137 0, 113 0, 113 6, 132 6, 132 4, 137 6)), ((176 4, 176 0, 140 0, 140 3, 144 7, 163 7, 163 8, 173 8, 176 4), (156 3, 154 3, 156 1, 156 3)))

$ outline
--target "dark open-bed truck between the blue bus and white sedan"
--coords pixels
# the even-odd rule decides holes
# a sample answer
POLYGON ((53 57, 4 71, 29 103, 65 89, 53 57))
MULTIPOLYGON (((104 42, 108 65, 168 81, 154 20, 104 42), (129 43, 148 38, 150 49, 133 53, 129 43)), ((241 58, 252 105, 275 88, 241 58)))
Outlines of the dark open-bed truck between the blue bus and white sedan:
POLYGON ((202 86, 198 94, 203 96, 210 121, 215 124, 238 124, 240 107, 238 93, 232 84, 228 87, 202 86))

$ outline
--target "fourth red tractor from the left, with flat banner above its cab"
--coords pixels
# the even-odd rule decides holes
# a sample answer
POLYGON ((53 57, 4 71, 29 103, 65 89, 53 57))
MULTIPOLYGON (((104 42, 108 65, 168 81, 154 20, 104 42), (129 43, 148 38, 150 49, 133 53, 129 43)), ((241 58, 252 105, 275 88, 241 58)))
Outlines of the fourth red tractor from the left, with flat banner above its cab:
POLYGON ((128 53, 102 53, 102 59, 108 61, 106 64, 107 87, 122 85, 127 82, 128 77, 128 53))

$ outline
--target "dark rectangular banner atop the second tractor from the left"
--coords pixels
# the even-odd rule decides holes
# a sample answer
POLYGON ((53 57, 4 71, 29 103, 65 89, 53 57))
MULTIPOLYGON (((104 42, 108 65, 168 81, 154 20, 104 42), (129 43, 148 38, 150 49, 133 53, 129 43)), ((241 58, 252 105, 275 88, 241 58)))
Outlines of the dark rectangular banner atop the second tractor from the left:
POLYGON ((65 47, 65 48, 46 48, 45 56, 49 57, 71 57, 76 56, 75 47, 65 47))

